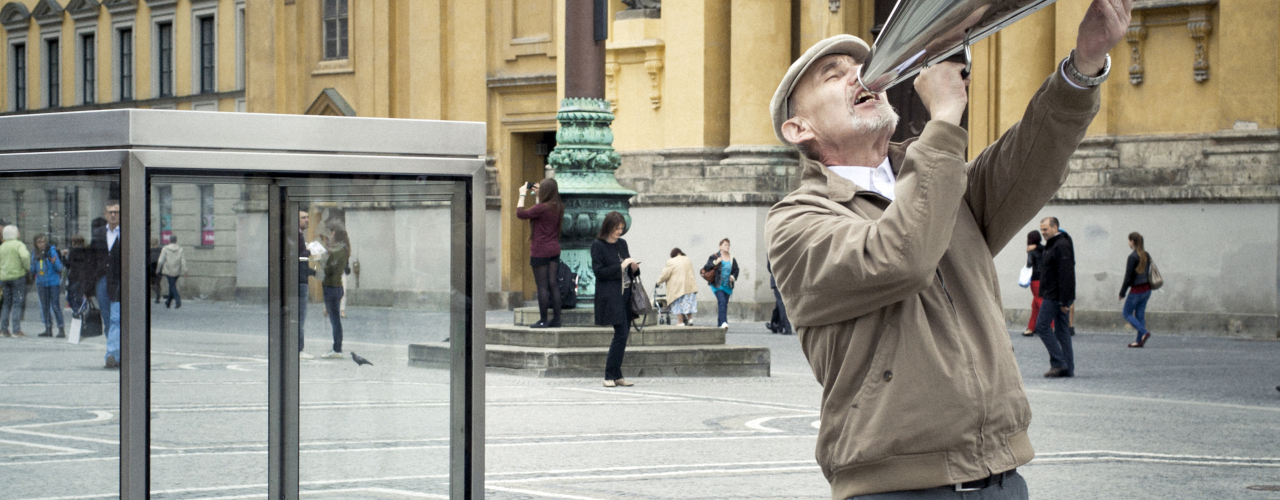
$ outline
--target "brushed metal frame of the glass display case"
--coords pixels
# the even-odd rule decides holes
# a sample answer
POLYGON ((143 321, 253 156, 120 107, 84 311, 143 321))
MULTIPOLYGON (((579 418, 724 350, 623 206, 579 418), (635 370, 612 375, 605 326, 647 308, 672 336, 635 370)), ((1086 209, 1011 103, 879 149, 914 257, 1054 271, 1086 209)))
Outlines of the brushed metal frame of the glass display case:
MULTIPOLYGON (((147 196, 151 175, 252 179, 325 174, 396 175, 456 180, 465 214, 453 212, 465 240, 465 335, 452 335, 449 382, 449 496, 484 497, 484 193, 485 124, 402 119, 269 115, 204 111, 108 110, 0 118, 0 173, 118 171, 122 211, 120 293, 120 497, 142 500, 150 488, 150 339, 147 303, 147 196), (143 221, 143 224, 131 224, 143 221)), ((285 234, 284 201, 269 191, 269 231, 285 234)), ((293 219, 296 228, 297 220, 293 219)), ((297 355, 289 335, 283 244, 269 257, 270 341, 269 497, 297 499, 298 422, 287 421, 284 398, 297 408, 297 355), (283 267, 283 269, 282 269, 283 267), (288 370, 291 367, 291 370, 288 370), (292 376, 292 380, 291 380, 292 376), (291 449, 292 446, 292 449, 291 449), (292 453, 291 453, 292 451, 292 453)), ((294 294, 296 297, 296 294, 294 294)), ((296 343, 296 340, 293 340, 296 343)), ((296 344, 293 345, 297 347, 296 344)))

